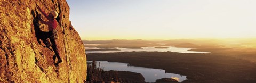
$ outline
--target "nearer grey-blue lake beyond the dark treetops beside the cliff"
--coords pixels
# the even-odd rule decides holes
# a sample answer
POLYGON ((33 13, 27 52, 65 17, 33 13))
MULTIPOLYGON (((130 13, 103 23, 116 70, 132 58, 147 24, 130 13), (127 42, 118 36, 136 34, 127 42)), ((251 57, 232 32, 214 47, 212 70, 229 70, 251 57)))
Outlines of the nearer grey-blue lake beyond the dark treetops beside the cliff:
MULTIPOLYGON (((92 61, 87 61, 92 62, 92 61)), ((130 71, 141 73, 145 78, 146 82, 155 82, 157 79, 161 78, 173 78, 177 79, 179 82, 186 80, 186 76, 181 76, 179 74, 174 73, 165 73, 165 70, 161 69, 152 69, 152 68, 144 68, 144 67, 134 67, 128 66, 127 63, 119 63, 119 62, 107 62, 107 61, 96 61, 97 67, 103 68, 105 71, 115 70, 115 71, 130 71)))

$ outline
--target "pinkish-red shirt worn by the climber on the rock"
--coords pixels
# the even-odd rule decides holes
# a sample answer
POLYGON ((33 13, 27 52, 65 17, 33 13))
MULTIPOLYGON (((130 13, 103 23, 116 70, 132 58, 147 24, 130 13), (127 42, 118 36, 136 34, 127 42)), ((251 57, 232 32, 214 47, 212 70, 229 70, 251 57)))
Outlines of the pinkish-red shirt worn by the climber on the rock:
POLYGON ((43 21, 42 19, 40 19, 40 21, 43 24, 47 24, 48 25, 48 30, 52 31, 53 29, 56 29, 57 27, 57 20, 53 19, 51 17, 49 17, 42 9, 39 8, 39 10, 44 14, 44 16, 48 19, 48 21, 43 21))

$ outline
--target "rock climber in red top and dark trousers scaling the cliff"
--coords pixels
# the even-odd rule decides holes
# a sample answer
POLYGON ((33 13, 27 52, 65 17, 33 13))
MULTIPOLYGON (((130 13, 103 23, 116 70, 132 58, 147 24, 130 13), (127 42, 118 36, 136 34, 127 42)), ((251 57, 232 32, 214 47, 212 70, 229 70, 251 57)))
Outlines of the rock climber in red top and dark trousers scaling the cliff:
POLYGON ((57 30, 56 30, 56 28, 57 28, 57 20, 55 18, 57 18, 58 13, 55 12, 55 11, 51 11, 51 13, 49 13, 49 15, 47 15, 45 13, 45 11, 41 9, 41 7, 39 7, 39 6, 37 6, 37 7, 39 8, 39 10, 42 12, 42 14, 48 20, 48 21, 42 20, 41 19, 41 14, 38 14, 40 22, 43 23, 43 24, 46 24, 48 26, 48 30, 49 31, 48 32, 43 32, 42 34, 44 35, 45 40, 46 40, 46 47, 52 46, 52 49, 53 49, 53 51, 55 53, 55 55, 53 55, 54 64, 58 65, 59 63, 62 62, 62 60, 60 58, 59 48, 58 48, 58 45, 56 43, 56 38, 57 38, 57 30), (48 38, 50 39, 51 43, 49 43, 49 40, 47 40, 48 38), (57 63, 55 63, 56 56, 58 58, 57 63))

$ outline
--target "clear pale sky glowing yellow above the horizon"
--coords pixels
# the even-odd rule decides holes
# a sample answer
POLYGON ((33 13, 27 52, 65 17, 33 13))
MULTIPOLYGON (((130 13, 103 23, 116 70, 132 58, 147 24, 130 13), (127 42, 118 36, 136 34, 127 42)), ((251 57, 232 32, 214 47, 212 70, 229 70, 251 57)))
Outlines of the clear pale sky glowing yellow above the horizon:
POLYGON ((255 0, 67 0, 82 39, 256 37, 255 0))

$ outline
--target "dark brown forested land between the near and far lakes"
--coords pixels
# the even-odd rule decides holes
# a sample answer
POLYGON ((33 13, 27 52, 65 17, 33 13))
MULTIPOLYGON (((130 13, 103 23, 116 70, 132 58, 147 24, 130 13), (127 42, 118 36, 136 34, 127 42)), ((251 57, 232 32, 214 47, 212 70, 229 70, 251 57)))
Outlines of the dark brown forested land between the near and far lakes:
MULTIPOLYGON (((214 79, 221 79, 222 81, 235 80, 231 82, 245 82, 243 80, 253 77, 248 76, 247 74, 254 73, 252 71, 256 69, 253 67, 253 65, 256 65, 255 63, 219 54, 120 52, 91 53, 86 55, 88 60, 122 62, 137 67, 163 69, 165 72, 187 76, 188 80, 185 81, 188 82, 198 82, 199 80, 209 82, 209 80, 214 81, 214 79), (216 74, 215 72, 219 72, 219 74, 216 74), (221 74, 226 75, 221 76, 221 74), (235 78, 241 78, 241 80, 235 78)), ((249 82, 250 81, 256 81, 256 77, 253 77, 249 82)))

